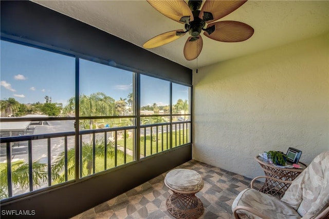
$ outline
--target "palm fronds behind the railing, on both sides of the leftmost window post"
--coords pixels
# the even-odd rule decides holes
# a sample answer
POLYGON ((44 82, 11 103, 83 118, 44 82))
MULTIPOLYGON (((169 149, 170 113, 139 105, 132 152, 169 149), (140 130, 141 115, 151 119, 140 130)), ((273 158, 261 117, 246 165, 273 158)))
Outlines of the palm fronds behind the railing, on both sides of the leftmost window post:
MULTIPOLYGON (((82 143, 82 168, 87 171, 87 175, 93 173, 93 141, 90 143, 82 143)), ((117 153, 122 153, 117 151, 117 153)), ((106 157, 113 158, 115 154, 114 142, 108 141, 106 145, 106 157)), ((104 139, 97 139, 95 142, 95 159, 97 157, 105 157, 105 141, 104 139)), ((65 153, 61 152, 53 161, 51 165, 52 177, 54 181, 59 183, 65 182, 65 175, 63 174, 65 165, 65 153)), ((67 175, 74 176, 75 173, 75 148, 67 151, 67 175)), ((83 174, 84 175, 84 174, 83 174)))

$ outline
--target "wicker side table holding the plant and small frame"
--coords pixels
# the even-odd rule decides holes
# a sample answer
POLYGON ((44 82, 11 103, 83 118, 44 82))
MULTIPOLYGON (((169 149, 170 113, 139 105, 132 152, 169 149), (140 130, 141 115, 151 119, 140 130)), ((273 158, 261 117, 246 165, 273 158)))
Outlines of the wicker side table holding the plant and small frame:
MULTIPOLYGON (((306 168, 306 165, 299 162, 302 169, 297 168, 279 168, 268 163, 263 157, 257 155, 255 160, 261 165, 265 176, 270 176, 282 181, 294 181, 295 178, 306 168)), ((259 190, 263 193, 270 194, 281 198, 291 183, 283 183, 266 178, 263 187, 259 190)))

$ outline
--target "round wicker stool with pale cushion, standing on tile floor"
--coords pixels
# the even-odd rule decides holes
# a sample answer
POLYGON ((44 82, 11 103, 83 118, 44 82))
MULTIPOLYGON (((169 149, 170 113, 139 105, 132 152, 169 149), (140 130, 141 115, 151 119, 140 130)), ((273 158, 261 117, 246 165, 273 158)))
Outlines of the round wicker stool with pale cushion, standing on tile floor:
POLYGON ((167 198, 167 210, 176 218, 198 218, 204 205, 195 193, 204 187, 200 174, 194 170, 174 169, 165 177, 166 186, 173 191, 167 198))

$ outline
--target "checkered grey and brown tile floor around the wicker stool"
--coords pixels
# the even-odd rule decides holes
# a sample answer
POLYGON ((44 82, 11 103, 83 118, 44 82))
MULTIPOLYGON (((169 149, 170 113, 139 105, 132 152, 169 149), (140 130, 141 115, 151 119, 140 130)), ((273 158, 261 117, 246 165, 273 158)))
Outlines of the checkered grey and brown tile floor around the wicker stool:
MULTIPOLYGON (((231 205, 236 195, 249 186, 250 178, 194 160, 177 168, 195 170, 204 180, 204 188, 196 193, 205 207, 200 219, 234 218, 231 205)), ((71 219, 175 218, 166 210, 167 197, 172 193, 163 183, 166 173, 71 219)))

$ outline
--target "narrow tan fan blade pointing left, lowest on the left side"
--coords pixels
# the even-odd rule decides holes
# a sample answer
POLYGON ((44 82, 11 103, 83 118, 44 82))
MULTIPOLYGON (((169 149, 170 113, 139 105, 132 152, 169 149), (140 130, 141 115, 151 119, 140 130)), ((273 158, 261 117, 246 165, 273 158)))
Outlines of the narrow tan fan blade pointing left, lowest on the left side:
POLYGON ((153 37, 152 39, 149 39, 148 42, 143 44, 143 47, 145 49, 152 49, 158 46, 163 46, 165 44, 175 41, 181 36, 184 36, 185 33, 183 31, 184 30, 173 30, 166 33, 162 33, 153 37))

